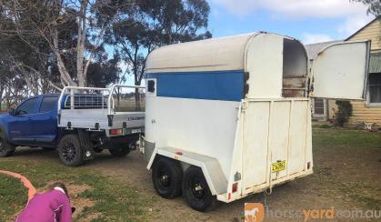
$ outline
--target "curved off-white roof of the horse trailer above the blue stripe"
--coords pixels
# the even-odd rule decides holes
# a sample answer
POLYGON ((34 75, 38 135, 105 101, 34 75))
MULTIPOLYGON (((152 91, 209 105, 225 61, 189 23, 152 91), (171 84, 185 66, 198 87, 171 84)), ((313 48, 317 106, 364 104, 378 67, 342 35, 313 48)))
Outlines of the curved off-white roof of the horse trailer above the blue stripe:
MULTIPOLYGON (((155 49, 146 60, 146 73, 245 70, 246 47, 256 35, 233 35, 166 45, 155 49)), ((294 38, 283 36, 287 39, 294 38)))

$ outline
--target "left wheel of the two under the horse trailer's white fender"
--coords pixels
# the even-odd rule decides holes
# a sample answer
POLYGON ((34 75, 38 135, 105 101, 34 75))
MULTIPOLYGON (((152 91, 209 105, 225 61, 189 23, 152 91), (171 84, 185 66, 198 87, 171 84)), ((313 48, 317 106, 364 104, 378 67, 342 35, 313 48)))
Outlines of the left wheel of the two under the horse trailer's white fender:
POLYGON ((152 181, 160 197, 167 199, 181 194, 183 171, 178 162, 167 157, 159 157, 152 170, 152 181))

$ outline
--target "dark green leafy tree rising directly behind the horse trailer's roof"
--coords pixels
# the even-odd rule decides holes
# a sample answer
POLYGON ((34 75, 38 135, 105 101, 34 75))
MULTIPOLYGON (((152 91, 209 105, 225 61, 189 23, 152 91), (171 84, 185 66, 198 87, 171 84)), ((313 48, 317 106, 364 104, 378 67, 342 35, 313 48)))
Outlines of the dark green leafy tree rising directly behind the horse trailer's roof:
POLYGON ((156 47, 210 38, 206 0, 140 0, 118 9, 121 16, 105 33, 140 86, 146 56, 156 47))

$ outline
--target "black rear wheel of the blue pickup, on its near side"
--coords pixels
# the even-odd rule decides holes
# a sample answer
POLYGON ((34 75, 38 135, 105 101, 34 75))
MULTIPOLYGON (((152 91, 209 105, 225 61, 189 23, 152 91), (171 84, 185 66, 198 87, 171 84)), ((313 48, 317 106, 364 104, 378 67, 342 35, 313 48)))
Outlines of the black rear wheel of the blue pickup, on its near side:
POLYGON ((84 151, 78 136, 66 135, 62 137, 58 145, 59 159, 65 166, 79 166, 84 160, 84 151))

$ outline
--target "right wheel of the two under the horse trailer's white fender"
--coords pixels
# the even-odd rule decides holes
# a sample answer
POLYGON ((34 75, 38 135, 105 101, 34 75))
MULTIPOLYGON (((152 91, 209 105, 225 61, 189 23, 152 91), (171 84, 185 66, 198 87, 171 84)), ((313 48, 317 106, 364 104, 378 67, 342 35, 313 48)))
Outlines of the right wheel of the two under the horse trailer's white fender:
POLYGON ((183 196, 189 207, 204 212, 216 202, 200 167, 190 166, 183 178, 183 196))

